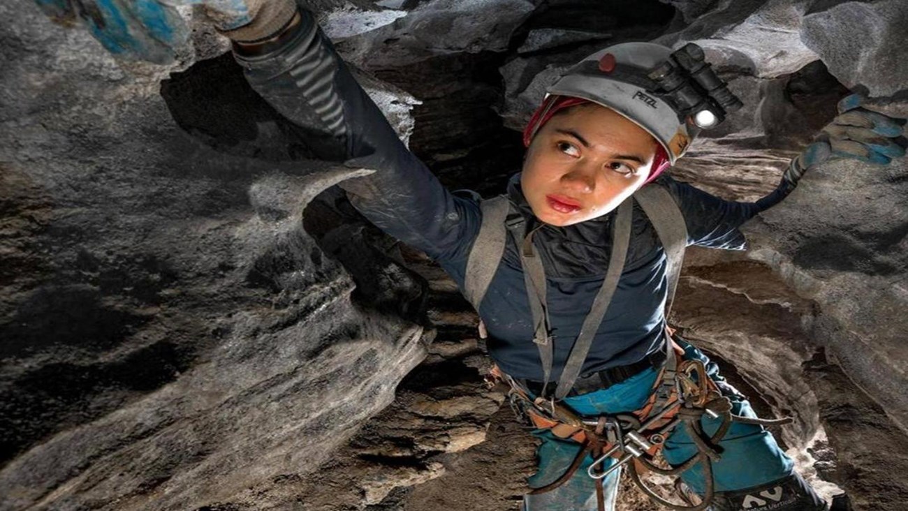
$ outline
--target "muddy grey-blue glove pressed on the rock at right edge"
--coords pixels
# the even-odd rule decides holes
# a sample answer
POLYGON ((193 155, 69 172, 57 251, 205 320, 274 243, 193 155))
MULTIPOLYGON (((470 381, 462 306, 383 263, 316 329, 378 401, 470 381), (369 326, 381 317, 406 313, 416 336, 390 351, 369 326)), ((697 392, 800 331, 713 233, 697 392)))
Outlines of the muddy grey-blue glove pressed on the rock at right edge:
POLYGON ((905 119, 860 108, 863 101, 862 96, 852 94, 839 102, 839 115, 785 169, 783 180, 789 190, 807 169, 834 158, 884 165, 904 156, 908 145, 903 136, 905 119))

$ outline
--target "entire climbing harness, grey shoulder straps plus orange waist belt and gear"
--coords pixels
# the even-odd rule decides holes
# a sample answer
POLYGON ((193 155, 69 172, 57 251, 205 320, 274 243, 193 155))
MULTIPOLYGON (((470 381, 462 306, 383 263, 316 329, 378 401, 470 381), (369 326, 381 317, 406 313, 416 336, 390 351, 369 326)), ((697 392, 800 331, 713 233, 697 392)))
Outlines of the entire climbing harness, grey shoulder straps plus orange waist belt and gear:
MULTIPOLYGON (((605 317, 609 302, 617 288, 621 271, 624 269, 633 220, 633 201, 637 201, 646 213, 666 251, 668 283, 666 318, 671 310, 681 262, 684 260, 687 241, 686 224, 674 198, 666 188, 659 184, 652 184, 638 190, 632 199, 628 199, 618 206, 606 277, 593 300, 593 305, 583 322, 551 396, 548 395, 547 389, 552 370, 553 348, 546 307, 545 270, 542 261, 533 250, 534 231, 524 233, 523 219, 519 214, 509 214, 512 206, 506 196, 499 196, 480 203, 483 213, 482 224, 469 253, 464 294, 476 310, 479 310, 479 305, 489 289, 489 284, 504 254, 509 234, 518 247, 524 269, 530 312, 533 318, 533 342, 536 343, 539 350, 545 380, 542 383, 541 391, 534 394, 529 392, 526 386, 502 373, 496 367, 490 371, 489 383, 491 385, 499 382, 508 384, 510 388, 508 391, 509 402, 511 408, 515 409, 518 418, 528 418, 535 427, 549 429, 556 437, 570 438, 582 446, 577 457, 561 477, 548 486, 534 489, 530 492, 531 494, 545 493, 563 485, 574 476, 588 455, 594 458, 593 464, 587 468, 587 474, 597 481, 597 501, 600 510, 604 509, 603 479, 620 467, 627 467, 631 480, 657 504, 676 510, 701 511, 713 501, 715 488, 712 463, 722 456, 722 447, 719 446, 719 442, 725 437, 731 423, 738 421, 770 426, 785 424, 791 421, 790 418, 765 420, 733 415, 731 401, 723 396, 713 380, 709 378, 703 362, 690 359, 679 360, 677 351, 683 352, 683 350, 672 339, 672 333, 667 327, 663 344, 663 348, 666 349, 665 365, 656 378, 653 391, 643 408, 630 414, 606 414, 597 418, 584 418, 560 402, 574 387, 594 335, 605 317), (712 436, 706 435, 701 426, 700 419, 704 416, 722 419, 716 433, 712 436), (677 467, 660 467, 656 457, 666 442, 666 438, 679 425, 687 428, 689 436, 697 447, 697 454, 677 467), (616 458, 617 462, 611 467, 606 467, 608 458, 616 458), (698 504, 693 503, 683 492, 681 495, 686 500, 686 506, 679 506, 667 501, 646 486, 639 474, 639 470, 642 468, 664 476, 678 476, 697 464, 702 466, 706 480, 706 490, 698 504)), ((677 483, 680 483, 680 479, 677 479, 677 483)))

